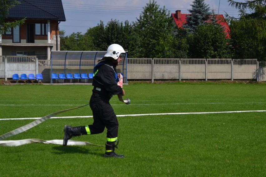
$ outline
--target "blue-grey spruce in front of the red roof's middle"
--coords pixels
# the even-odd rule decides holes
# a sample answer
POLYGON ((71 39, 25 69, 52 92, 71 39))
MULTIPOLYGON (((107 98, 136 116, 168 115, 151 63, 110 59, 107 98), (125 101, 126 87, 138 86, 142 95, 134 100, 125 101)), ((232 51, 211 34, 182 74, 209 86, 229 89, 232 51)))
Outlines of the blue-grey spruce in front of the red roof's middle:
POLYGON ((186 15, 186 23, 183 28, 191 33, 198 25, 209 20, 211 13, 209 12, 209 5, 204 0, 194 0, 190 6, 192 8, 188 9, 190 14, 186 15))

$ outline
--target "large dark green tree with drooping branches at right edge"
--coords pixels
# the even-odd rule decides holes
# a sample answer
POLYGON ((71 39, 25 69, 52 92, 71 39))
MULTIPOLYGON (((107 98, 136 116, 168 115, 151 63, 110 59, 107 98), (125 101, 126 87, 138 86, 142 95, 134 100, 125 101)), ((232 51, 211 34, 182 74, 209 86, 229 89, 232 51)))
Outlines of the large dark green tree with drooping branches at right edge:
POLYGON ((228 2, 239 9, 238 18, 225 15, 230 22, 234 58, 266 60, 266 0, 228 2))

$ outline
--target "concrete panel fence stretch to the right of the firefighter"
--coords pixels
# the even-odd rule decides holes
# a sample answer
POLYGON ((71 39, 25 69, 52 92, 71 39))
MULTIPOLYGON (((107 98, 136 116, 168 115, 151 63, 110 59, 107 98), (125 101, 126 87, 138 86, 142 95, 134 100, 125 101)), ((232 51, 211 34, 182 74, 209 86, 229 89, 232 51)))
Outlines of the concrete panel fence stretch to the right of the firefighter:
POLYGON ((257 59, 128 58, 128 79, 255 79, 266 81, 265 62, 257 59))

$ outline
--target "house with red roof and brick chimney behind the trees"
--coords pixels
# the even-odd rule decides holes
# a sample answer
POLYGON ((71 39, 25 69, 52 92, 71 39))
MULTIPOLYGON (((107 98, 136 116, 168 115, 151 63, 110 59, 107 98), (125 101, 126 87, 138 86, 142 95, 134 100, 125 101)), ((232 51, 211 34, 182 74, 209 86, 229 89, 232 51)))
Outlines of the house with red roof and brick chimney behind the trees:
MULTIPOLYGON (((178 28, 182 28, 183 24, 186 23, 186 18, 187 18, 186 15, 190 15, 190 14, 181 13, 181 10, 177 10, 175 11, 175 13, 172 13, 170 17, 173 18, 173 22, 178 28)), ((218 14, 216 16, 216 20, 217 20, 217 23, 224 26, 224 33, 226 34, 226 37, 229 38, 230 29, 229 29, 228 23, 224 20, 224 16, 222 14, 218 14)))

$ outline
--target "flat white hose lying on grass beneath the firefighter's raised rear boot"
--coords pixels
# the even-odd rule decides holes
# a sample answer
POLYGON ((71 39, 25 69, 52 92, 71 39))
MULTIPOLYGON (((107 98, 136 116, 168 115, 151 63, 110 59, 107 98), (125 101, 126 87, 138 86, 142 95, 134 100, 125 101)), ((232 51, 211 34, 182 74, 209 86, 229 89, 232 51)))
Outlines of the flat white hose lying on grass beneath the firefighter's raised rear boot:
MULTIPOLYGON (((44 141, 41 139, 25 139, 25 140, 8 140, 8 141, 0 141, 0 146, 21 146, 24 144, 30 143, 45 143, 45 144, 58 144, 63 145, 63 140, 48 140, 44 141)), ((104 146, 104 145, 96 145, 86 141, 75 141, 75 140, 68 140, 67 145, 74 146, 84 146, 84 145, 93 145, 93 146, 104 146)))

